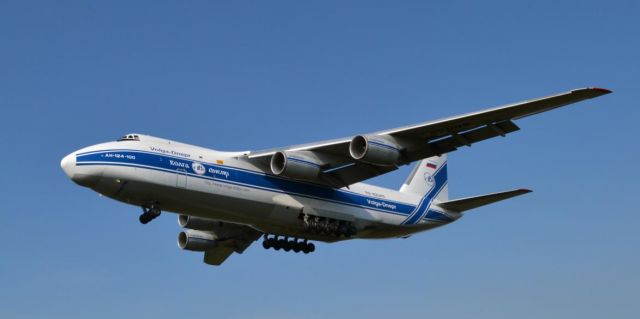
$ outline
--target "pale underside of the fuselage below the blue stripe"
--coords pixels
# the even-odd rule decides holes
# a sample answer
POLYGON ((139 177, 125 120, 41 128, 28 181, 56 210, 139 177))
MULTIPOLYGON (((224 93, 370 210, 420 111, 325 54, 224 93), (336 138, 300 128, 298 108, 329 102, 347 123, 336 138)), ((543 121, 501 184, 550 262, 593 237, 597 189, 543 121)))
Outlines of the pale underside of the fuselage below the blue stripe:
POLYGON ((404 235, 406 227, 396 227, 406 216, 343 205, 315 198, 283 194, 226 183, 220 180, 184 176, 151 169, 104 166, 99 193, 136 206, 158 202, 164 211, 252 225, 269 233, 322 241, 335 238, 309 234, 301 214, 352 222, 362 231, 358 238, 385 238, 404 235))

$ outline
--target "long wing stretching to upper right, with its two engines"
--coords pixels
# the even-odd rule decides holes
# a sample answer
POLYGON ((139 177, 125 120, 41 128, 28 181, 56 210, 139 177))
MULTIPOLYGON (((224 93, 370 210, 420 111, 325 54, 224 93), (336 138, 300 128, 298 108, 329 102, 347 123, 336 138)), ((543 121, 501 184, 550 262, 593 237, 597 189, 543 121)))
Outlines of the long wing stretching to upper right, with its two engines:
POLYGON ((244 156, 267 173, 344 187, 400 165, 505 136, 519 130, 513 120, 609 93, 601 88, 576 89, 436 121, 244 156))

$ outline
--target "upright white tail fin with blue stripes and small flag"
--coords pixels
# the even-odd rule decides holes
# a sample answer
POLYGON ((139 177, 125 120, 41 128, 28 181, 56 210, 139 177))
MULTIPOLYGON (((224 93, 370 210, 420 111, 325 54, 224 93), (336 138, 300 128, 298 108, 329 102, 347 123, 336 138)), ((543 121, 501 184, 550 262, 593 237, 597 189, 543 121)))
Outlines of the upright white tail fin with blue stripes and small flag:
POLYGON ((445 202, 449 199, 447 154, 429 157, 420 161, 413 168, 402 187, 400 187, 400 192, 422 197, 432 189, 439 190, 434 199, 435 202, 445 202))

